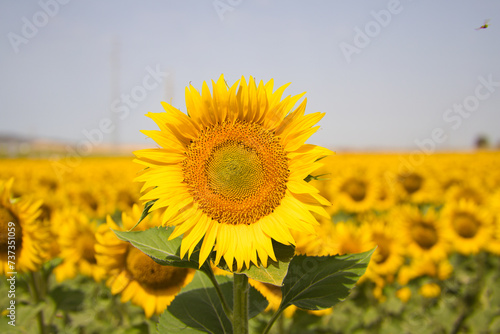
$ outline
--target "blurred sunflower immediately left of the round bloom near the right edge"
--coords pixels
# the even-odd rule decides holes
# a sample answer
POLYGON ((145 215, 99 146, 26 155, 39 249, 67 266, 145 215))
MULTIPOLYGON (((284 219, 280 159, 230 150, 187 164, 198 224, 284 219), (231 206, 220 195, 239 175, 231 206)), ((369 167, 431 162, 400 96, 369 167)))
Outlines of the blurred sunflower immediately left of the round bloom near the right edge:
POLYGON ((401 224, 399 234, 408 256, 433 260, 447 258, 449 244, 436 210, 429 208, 422 213, 418 207, 405 205, 398 209, 395 217, 401 224))

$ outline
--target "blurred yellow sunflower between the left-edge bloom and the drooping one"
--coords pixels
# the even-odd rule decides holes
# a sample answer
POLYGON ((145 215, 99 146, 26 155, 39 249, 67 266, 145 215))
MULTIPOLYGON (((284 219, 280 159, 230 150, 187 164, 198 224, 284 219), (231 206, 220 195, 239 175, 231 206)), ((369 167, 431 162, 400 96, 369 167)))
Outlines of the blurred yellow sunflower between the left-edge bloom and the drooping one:
POLYGON ((81 273, 96 282, 101 281, 106 272, 95 258, 97 223, 76 208, 63 210, 61 217, 65 218, 58 220, 60 224, 55 228, 58 230, 59 257, 63 262, 54 269, 56 280, 62 282, 81 273))

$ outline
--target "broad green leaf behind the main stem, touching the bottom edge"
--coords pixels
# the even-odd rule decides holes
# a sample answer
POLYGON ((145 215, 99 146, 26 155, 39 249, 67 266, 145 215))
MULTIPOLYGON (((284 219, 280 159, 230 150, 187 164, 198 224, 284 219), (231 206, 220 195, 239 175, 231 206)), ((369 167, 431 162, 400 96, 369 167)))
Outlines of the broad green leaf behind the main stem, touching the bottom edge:
MULTIPOLYGON (((224 298, 232 308, 233 282, 228 277, 217 277, 224 298)), ((231 321, 227 318, 210 279, 197 272, 187 287, 174 299, 160 316, 158 333, 232 333, 231 321), (194 283, 193 289, 189 286, 194 283), (187 291, 186 291, 187 290, 187 291)), ((253 287, 250 287, 250 318, 267 307, 267 300, 253 287)))

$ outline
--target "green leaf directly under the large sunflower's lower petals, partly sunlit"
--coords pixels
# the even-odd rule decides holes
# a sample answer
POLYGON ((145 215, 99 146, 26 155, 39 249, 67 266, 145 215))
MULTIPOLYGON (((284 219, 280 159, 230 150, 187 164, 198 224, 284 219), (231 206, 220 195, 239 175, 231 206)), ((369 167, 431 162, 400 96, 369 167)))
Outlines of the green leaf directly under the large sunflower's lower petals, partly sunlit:
MULTIPOLYGON (((239 272, 256 281, 281 286, 288 271, 290 260, 295 254, 295 247, 285 246, 274 240, 272 240, 272 242, 274 253, 278 261, 268 259, 267 268, 263 266, 257 267, 251 264, 250 268, 244 267, 239 272)), ((228 266, 224 262, 224 259, 221 260, 218 267, 223 270, 229 270, 228 266)), ((236 268, 233 268, 233 270, 236 270, 236 268)))

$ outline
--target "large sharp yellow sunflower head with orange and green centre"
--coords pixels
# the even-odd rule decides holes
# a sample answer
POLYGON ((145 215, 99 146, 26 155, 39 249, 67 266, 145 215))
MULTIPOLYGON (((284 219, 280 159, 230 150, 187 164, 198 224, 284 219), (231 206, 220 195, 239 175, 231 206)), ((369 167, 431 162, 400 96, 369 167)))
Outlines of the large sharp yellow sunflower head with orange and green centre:
POLYGON ((212 84, 212 94, 205 82, 201 95, 186 88, 188 115, 167 103, 148 114, 160 131, 143 133, 161 148, 135 152, 147 167, 136 179, 141 200, 166 208, 162 223, 175 226, 170 238, 183 235, 181 256, 203 240, 200 265, 213 250, 215 264, 266 267, 276 260, 272 239, 294 244, 290 230, 314 233, 310 211, 328 216, 329 202, 304 181, 331 154, 304 144, 324 114, 304 115, 306 100, 290 112, 303 94, 281 100, 287 86, 273 92, 273 80, 212 84))

